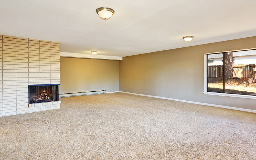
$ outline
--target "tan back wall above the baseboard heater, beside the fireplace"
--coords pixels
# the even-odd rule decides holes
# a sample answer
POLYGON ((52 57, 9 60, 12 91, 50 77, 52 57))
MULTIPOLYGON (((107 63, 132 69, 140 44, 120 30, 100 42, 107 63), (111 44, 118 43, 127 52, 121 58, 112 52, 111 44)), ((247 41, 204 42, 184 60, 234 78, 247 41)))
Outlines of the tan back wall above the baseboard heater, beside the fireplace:
POLYGON ((60 57, 59 93, 119 91, 119 61, 60 57))

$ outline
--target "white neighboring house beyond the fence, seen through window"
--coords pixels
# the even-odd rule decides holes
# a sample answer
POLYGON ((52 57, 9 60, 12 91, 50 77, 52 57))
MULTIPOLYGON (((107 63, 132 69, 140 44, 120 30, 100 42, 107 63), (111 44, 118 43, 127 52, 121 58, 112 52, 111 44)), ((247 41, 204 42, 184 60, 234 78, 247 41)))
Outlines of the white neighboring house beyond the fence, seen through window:
MULTIPOLYGON (((223 54, 208 55, 208 66, 223 65, 223 54)), ((233 65, 255 64, 256 50, 233 52, 233 65)))

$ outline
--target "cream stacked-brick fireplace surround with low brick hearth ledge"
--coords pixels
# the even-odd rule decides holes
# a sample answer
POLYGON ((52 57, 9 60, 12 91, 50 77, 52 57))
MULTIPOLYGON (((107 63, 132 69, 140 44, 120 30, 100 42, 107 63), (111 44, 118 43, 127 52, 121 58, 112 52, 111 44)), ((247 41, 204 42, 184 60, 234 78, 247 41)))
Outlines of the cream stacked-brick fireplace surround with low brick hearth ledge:
POLYGON ((0 116, 60 108, 61 100, 28 104, 28 85, 59 83, 58 42, 0 35, 0 116))

